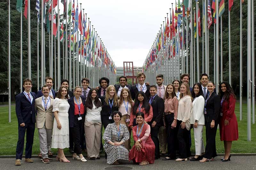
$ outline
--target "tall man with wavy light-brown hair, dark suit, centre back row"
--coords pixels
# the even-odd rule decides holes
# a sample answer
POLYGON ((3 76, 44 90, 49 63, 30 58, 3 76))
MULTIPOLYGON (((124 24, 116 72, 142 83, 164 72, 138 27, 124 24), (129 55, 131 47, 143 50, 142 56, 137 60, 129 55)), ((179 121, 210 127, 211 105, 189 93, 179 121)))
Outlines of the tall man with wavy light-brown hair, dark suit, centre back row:
POLYGON ((139 91, 143 91, 146 94, 147 98, 149 98, 149 85, 145 84, 146 75, 144 73, 138 73, 137 79, 139 83, 132 86, 132 100, 135 99, 135 96, 139 91))

